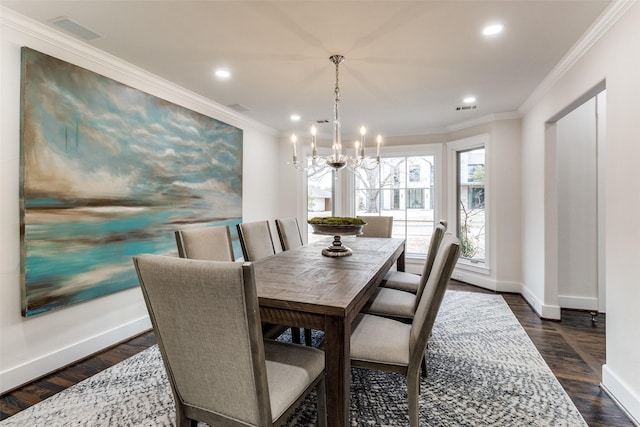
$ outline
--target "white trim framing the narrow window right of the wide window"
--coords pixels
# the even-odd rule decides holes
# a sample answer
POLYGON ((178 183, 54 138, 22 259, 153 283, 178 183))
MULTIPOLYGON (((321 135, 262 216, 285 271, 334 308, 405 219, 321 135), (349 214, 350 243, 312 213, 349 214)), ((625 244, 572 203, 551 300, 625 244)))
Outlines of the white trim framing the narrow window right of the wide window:
POLYGON ((473 148, 484 147, 485 175, 484 201, 485 201, 485 257, 484 262, 472 262, 460 258, 457 268, 473 271, 475 273, 489 274, 491 271, 491 164, 489 134, 480 134, 468 138, 458 139, 447 144, 447 222, 451 226, 457 226, 457 153, 473 148))

